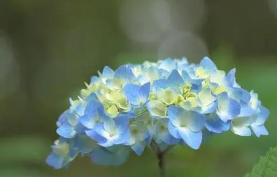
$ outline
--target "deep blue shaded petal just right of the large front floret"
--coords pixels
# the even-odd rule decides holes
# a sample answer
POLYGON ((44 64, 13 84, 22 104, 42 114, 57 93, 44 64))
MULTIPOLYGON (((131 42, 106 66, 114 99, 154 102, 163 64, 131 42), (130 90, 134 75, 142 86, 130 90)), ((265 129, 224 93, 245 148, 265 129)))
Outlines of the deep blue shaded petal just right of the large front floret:
POLYGON ((223 122, 216 114, 207 115, 206 118, 205 126, 211 132, 222 133, 230 129, 230 122, 223 122))

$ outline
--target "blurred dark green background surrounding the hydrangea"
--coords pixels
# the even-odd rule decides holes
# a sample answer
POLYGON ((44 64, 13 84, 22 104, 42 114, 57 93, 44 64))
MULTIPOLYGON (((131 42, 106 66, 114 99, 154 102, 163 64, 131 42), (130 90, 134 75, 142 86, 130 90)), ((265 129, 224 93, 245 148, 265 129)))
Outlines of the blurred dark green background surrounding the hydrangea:
POLYGON ((97 70, 183 56, 236 67, 271 111, 270 135, 228 132, 197 151, 176 147, 168 176, 243 176, 277 145, 277 0, 1 0, 0 177, 157 176, 150 151, 120 167, 77 158, 53 170, 44 161, 68 98, 97 70))

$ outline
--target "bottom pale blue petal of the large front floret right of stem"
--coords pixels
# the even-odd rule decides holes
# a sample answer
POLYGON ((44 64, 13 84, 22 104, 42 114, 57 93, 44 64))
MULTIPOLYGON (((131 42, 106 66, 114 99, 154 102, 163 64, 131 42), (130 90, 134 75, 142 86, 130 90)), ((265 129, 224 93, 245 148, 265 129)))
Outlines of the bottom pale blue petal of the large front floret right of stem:
POLYGON ((199 149, 202 143, 202 132, 192 132, 188 128, 180 128, 179 134, 184 142, 193 149, 199 149))

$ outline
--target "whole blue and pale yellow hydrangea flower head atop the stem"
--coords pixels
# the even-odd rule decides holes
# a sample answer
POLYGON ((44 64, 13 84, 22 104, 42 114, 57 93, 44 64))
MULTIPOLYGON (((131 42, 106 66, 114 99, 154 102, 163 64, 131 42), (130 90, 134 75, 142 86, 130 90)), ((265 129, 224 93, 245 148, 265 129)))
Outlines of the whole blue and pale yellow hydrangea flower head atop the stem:
POLYGON ((130 151, 152 143, 198 149, 205 134, 231 130, 240 136, 268 135, 269 111, 258 95, 241 88, 235 69, 226 74, 208 58, 104 67, 57 121, 60 138, 46 162, 58 169, 79 155, 101 165, 120 165, 130 151))

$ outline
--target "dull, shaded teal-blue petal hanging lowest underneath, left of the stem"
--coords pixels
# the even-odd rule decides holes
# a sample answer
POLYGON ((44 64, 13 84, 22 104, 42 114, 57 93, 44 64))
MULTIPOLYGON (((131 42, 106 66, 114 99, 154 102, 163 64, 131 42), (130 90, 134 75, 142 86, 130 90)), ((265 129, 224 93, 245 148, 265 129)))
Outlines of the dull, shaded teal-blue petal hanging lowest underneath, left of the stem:
POLYGON ((91 153, 91 160, 99 165, 119 166, 126 162, 129 157, 130 149, 122 146, 115 152, 98 148, 91 153))

